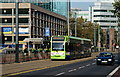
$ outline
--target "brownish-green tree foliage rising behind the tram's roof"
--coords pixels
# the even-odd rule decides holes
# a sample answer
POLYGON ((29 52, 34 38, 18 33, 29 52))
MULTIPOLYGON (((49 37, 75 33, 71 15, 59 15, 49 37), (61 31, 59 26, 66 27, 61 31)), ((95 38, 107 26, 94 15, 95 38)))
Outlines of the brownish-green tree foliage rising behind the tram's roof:
MULTIPOLYGON (((86 22, 82 17, 77 18, 77 37, 88 38, 93 41, 94 38, 94 25, 91 22, 86 22)), ((75 36, 75 18, 70 18, 70 30, 72 36, 75 36)))

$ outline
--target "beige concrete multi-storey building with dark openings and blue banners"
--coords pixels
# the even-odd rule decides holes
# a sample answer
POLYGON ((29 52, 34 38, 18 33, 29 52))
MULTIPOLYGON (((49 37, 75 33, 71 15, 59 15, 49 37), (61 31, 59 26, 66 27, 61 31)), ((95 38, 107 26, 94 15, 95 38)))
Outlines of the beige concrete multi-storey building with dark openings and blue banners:
MULTIPOLYGON (((0 23, 4 44, 15 44, 15 3, 0 3, 0 23)), ((52 35, 65 35, 67 18, 31 3, 19 4, 19 43, 25 38, 50 40, 52 35), (47 31, 47 32, 46 32, 47 31)))

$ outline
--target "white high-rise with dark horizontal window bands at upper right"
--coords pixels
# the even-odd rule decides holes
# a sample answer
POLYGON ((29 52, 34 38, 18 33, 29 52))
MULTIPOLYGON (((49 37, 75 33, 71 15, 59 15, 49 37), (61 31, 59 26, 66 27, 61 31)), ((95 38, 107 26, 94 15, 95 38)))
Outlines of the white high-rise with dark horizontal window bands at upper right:
POLYGON ((90 6, 90 21, 96 22, 102 29, 118 30, 118 18, 112 13, 114 0, 98 0, 90 6))

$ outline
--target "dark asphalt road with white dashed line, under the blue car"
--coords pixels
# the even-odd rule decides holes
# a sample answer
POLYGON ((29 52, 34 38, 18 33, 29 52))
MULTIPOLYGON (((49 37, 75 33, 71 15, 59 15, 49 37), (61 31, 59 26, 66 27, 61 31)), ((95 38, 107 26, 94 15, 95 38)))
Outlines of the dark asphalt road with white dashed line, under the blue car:
POLYGON ((120 65, 120 53, 114 65, 96 65, 95 59, 20 74, 20 77, 106 77, 120 65))

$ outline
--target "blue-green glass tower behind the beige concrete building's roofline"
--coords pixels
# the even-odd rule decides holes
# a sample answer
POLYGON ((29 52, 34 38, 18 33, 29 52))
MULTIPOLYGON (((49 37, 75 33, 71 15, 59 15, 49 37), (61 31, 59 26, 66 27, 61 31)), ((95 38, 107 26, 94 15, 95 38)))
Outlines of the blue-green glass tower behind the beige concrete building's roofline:
MULTIPOLYGON (((67 0, 18 0, 20 3, 33 3, 47 10, 67 17, 68 2, 67 0)), ((0 0, 1 3, 15 3, 16 0, 0 0)))

